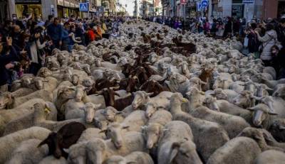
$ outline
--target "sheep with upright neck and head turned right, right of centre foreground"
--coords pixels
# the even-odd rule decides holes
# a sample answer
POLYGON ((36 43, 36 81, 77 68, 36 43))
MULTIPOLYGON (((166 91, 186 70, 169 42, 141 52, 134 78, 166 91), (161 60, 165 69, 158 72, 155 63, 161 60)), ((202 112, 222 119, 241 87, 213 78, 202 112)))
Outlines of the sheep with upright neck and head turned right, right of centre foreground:
POLYGON ((229 141, 229 136, 219 124, 197 119, 182 111, 182 102, 187 102, 187 99, 183 98, 179 93, 172 94, 170 113, 173 120, 185 121, 191 127, 197 152, 202 155, 203 161, 207 161, 217 148, 229 141))

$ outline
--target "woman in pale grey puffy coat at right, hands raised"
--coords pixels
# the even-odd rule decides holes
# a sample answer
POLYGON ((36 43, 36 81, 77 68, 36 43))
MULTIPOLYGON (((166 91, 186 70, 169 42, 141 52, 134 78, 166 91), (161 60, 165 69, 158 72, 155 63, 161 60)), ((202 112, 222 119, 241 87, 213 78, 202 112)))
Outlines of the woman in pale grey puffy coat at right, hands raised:
POLYGON ((262 53, 260 55, 261 60, 264 62, 265 67, 271 65, 272 55, 271 48, 276 44, 277 33, 274 31, 272 23, 266 24, 266 32, 263 37, 260 36, 259 31, 254 31, 257 34, 258 40, 262 43, 262 53))

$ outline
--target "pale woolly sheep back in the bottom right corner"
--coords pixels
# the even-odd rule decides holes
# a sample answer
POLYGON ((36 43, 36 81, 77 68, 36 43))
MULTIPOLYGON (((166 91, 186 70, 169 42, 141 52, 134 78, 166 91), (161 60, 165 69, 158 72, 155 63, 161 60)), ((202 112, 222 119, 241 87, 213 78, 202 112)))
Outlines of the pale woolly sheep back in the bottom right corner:
POLYGON ((281 151, 274 151, 274 150, 264 151, 257 156, 257 158, 254 160, 254 163, 256 164, 284 163, 285 160, 284 155, 285 154, 281 151))

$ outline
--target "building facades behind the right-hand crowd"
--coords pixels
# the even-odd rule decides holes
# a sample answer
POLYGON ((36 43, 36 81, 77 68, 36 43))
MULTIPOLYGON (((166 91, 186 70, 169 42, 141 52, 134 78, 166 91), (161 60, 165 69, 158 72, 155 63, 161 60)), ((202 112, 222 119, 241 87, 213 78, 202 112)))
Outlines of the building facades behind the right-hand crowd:
POLYGON ((197 17, 207 16, 210 18, 278 18, 285 15, 285 0, 208 0, 206 9, 197 9, 197 2, 202 0, 162 0, 163 16, 197 17))

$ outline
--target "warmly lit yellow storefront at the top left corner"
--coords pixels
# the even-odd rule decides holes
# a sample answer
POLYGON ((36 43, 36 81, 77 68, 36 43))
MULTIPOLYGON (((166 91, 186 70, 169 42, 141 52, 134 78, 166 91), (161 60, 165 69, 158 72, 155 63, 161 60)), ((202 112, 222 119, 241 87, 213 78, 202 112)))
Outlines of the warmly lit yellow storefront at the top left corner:
POLYGON ((23 18, 33 13, 36 16, 42 16, 41 0, 15 0, 16 15, 23 18))

